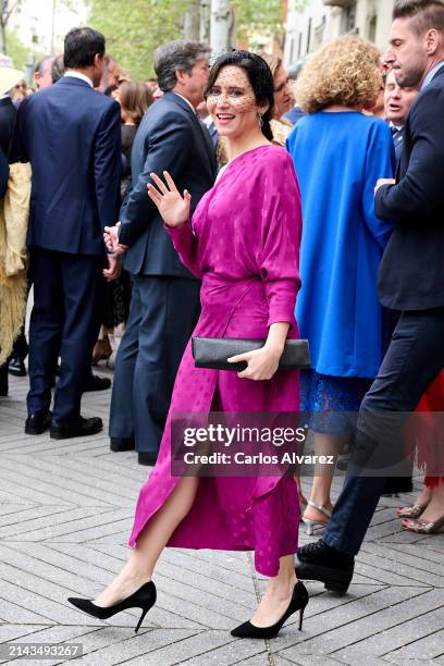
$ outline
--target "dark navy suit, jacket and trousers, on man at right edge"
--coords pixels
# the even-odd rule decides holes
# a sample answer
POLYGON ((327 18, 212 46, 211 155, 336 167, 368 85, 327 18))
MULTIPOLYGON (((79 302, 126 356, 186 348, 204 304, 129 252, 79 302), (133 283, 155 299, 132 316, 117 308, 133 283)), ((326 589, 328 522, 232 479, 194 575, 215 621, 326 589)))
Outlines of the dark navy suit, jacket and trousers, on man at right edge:
POLYGON ((444 127, 437 122, 443 114, 444 66, 410 109, 396 185, 375 195, 377 215, 396 223, 381 262, 380 298, 400 318, 362 402, 350 476, 324 535, 350 555, 359 551, 385 485, 382 474, 351 474, 377 447, 380 461, 399 459, 403 414, 416 408, 444 367, 444 127))

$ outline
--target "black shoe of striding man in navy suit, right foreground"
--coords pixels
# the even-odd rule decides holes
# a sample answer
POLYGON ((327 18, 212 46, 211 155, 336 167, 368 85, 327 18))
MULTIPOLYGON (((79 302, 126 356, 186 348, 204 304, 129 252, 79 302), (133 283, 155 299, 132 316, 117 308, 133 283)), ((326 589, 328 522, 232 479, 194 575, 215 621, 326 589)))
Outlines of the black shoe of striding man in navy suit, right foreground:
POLYGON ((329 546, 322 539, 297 551, 296 575, 303 580, 319 580, 325 590, 345 594, 351 582, 355 558, 329 546))

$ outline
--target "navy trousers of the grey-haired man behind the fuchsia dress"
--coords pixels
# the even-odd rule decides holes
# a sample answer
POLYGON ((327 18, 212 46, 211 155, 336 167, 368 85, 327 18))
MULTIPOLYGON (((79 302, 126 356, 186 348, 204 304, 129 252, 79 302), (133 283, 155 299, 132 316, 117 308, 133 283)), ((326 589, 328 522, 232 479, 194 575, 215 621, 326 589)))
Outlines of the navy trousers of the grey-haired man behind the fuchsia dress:
POLYGON ((133 276, 130 318, 115 359, 110 436, 157 453, 178 365, 197 322, 200 283, 133 276))

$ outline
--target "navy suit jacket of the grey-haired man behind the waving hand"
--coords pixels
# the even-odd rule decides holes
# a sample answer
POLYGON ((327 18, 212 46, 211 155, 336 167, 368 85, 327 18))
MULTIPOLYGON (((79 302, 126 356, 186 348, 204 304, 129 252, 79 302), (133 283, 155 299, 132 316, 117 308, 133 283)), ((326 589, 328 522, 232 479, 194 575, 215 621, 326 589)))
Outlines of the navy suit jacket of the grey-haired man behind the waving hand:
POLYGON ((165 92, 146 112, 133 144, 132 187, 122 205, 120 242, 130 245, 124 267, 133 274, 194 279, 181 263, 163 221, 147 195, 151 172, 169 171, 182 193, 192 195, 192 212, 215 177, 210 136, 189 104, 165 92))

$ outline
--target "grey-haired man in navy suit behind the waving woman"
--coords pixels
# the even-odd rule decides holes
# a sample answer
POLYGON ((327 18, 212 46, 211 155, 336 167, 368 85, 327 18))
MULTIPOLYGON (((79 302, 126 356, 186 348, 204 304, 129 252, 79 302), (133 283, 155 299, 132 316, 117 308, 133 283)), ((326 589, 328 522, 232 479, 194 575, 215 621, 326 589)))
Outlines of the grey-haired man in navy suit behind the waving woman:
POLYGON ((209 51, 206 45, 187 40, 157 49, 155 69, 164 95, 139 125, 122 224, 108 230, 114 251, 125 252, 124 267, 133 281, 130 318, 115 361, 111 451, 136 448, 143 465, 157 459, 200 289, 199 281, 181 263, 147 196, 147 185, 151 173, 169 171, 178 189, 192 194, 193 210, 213 185, 214 153, 196 115, 208 83, 209 51))

